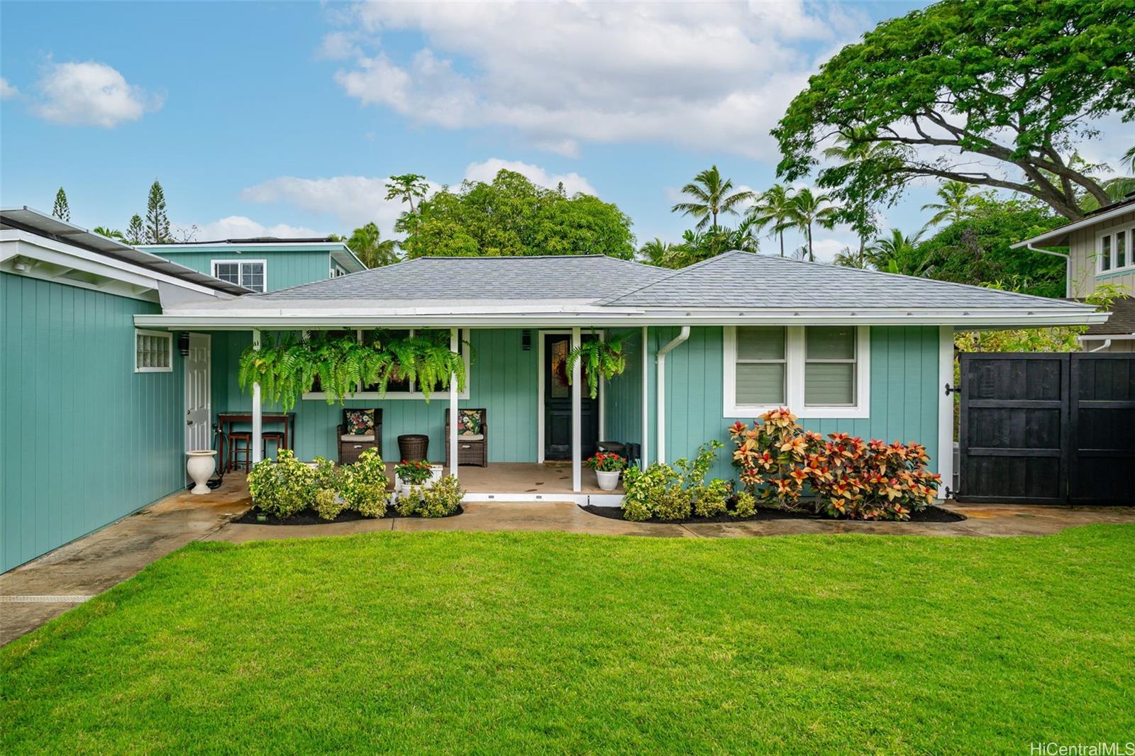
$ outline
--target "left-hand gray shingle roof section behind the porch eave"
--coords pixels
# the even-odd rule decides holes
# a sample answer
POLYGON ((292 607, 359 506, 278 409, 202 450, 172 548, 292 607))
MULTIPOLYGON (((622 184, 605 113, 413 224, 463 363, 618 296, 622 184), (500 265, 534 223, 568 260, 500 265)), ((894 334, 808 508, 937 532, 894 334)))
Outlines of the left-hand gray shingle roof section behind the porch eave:
POLYGON ((418 258, 254 295, 257 300, 582 300, 645 286, 670 270, 603 254, 418 258))

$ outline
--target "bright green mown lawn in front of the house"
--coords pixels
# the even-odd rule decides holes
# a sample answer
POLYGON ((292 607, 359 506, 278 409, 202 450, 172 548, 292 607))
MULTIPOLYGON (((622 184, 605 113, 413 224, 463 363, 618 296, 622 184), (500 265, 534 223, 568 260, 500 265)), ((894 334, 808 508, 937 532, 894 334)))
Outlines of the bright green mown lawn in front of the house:
POLYGON ((1135 526, 192 544, 0 649, 0 751, 1126 741, 1133 553, 1135 526))

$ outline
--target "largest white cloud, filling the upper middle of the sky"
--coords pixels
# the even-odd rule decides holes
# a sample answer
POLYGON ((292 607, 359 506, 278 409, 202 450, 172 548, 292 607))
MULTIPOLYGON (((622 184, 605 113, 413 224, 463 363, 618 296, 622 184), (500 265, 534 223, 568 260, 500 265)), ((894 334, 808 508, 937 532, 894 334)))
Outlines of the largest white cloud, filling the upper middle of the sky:
MULTIPOLYGON (((444 128, 512 127, 577 156, 580 142, 657 141, 774 158, 768 129, 813 68, 792 42, 832 44, 861 24, 800 1, 362 3, 344 91, 444 128), (409 60, 384 33, 426 42, 409 60), (365 53, 363 47, 379 51, 365 53)), ((861 28, 861 26, 859 26, 861 28)), ((335 32, 333 34, 343 34, 335 32)), ((330 35, 329 35, 330 36, 330 35)), ((342 48, 339 37, 325 45, 342 48)))

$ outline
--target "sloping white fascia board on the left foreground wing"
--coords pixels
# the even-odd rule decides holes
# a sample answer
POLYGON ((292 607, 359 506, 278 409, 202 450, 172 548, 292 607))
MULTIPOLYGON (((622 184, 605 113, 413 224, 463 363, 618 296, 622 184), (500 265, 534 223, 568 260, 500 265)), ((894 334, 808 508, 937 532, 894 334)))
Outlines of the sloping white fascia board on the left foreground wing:
POLYGON ((163 272, 143 268, 142 266, 116 260, 65 242, 57 242, 15 228, 0 229, 0 264, 3 264, 5 269, 8 270, 11 267, 9 261, 16 257, 39 260, 61 268, 82 270, 95 276, 119 280, 131 286, 141 286, 153 291, 157 291, 158 284, 162 283, 199 294, 208 294, 215 301, 236 299, 232 294, 225 294, 208 286, 201 286, 163 272))

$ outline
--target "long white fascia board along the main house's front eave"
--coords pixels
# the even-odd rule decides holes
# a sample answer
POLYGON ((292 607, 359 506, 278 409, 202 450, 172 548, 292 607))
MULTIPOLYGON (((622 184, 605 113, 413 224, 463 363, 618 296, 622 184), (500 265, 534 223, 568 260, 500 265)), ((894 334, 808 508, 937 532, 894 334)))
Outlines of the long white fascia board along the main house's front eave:
POLYGON ((377 327, 552 327, 552 326, 745 326, 745 325, 797 325, 835 326, 857 324, 861 326, 956 326, 965 329, 1037 328, 1043 326, 1083 326, 1105 322, 1107 312, 1081 312, 1060 310, 967 310, 957 311, 911 311, 863 312, 762 312, 748 316, 723 317, 720 312, 689 312, 681 314, 658 314, 645 312, 531 312, 531 313, 314 313, 285 311, 233 311, 224 314, 203 311, 180 311, 160 316, 135 316, 138 326, 168 328, 217 328, 217 329, 328 329, 328 328, 377 328, 377 327))

